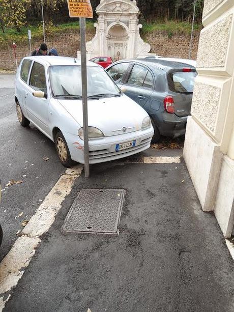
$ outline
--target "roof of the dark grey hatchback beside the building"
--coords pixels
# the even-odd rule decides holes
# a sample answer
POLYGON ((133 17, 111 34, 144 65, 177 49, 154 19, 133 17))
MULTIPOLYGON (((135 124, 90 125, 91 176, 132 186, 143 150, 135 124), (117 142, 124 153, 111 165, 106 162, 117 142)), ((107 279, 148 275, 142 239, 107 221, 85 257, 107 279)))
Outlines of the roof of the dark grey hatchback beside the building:
POLYGON ((191 67, 195 68, 192 65, 182 63, 182 62, 176 62, 176 61, 166 61, 166 60, 161 60, 161 59, 135 59, 135 60, 128 60, 136 63, 141 63, 147 66, 156 66, 161 68, 164 71, 169 71, 173 68, 183 68, 183 67, 191 67), (150 64, 149 64, 150 63, 150 64))

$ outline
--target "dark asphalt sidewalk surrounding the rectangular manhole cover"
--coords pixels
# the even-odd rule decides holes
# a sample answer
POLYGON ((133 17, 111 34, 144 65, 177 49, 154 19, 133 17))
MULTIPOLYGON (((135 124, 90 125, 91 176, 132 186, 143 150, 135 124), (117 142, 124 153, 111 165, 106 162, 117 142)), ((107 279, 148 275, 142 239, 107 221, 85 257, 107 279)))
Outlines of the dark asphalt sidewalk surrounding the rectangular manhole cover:
POLYGON ((234 265, 185 164, 115 161, 76 180, 6 312, 232 312, 234 265), (80 189, 126 190, 119 235, 65 234, 80 189))

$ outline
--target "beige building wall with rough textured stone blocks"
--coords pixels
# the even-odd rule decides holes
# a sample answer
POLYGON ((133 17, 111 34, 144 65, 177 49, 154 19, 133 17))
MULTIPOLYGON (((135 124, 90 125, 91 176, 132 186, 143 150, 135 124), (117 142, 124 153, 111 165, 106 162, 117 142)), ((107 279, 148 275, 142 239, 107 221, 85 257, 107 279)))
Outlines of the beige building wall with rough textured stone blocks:
POLYGON ((234 223, 234 0, 205 0, 184 158, 204 211, 234 223))

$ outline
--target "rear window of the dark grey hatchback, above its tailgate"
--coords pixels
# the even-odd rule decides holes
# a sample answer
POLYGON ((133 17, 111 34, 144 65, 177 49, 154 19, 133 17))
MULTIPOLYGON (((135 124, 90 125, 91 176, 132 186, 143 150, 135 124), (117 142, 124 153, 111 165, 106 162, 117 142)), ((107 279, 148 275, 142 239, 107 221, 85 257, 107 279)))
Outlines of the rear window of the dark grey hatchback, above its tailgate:
POLYGON ((168 85, 172 92, 191 94, 193 93, 194 79, 197 73, 175 72, 168 74, 168 85))

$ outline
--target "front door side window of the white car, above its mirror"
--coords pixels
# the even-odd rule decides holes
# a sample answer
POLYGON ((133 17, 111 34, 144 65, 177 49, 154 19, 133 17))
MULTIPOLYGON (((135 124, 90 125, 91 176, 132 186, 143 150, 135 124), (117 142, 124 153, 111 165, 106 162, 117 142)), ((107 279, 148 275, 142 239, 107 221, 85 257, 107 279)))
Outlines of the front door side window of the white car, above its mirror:
POLYGON ((45 68, 42 64, 34 62, 30 76, 30 86, 35 90, 47 93, 45 68))

